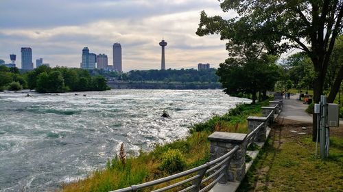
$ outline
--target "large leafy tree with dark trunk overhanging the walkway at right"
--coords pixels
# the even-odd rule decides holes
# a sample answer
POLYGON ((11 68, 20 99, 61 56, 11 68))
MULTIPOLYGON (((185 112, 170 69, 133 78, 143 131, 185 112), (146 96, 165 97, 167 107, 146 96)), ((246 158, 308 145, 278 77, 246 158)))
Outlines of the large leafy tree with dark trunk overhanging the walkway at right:
MULTIPOLYGON (((197 34, 200 36, 220 33, 222 40, 234 40, 238 35, 248 40, 264 42, 271 53, 283 53, 289 49, 301 49, 314 64, 314 102, 323 93, 324 79, 333 52, 335 39, 342 33, 342 0, 289 0, 220 1, 224 12, 235 10, 239 16, 223 19, 209 17, 201 12, 197 34), (237 25, 249 25, 246 33, 237 31, 237 25)), ((244 29, 244 27, 242 27, 244 29)), ((341 66, 343 68, 343 66, 341 66)), ((338 74, 342 76, 342 73, 338 74)), ((338 81, 342 78, 338 77, 338 81)), ((340 82, 339 82, 340 83, 340 82)), ((333 87, 331 93, 337 94, 333 87)), ((329 102, 332 102, 329 97, 329 102)), ((316 139, 316 115, 314 115, 313 139, 316 139)))

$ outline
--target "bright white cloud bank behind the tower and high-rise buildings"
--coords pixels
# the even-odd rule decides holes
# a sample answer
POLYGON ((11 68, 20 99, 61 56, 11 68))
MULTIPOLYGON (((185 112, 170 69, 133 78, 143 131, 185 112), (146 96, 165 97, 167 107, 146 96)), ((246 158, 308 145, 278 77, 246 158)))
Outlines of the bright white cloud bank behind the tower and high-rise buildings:
MULTIPOLYGON (((0 59, 7 60, 8 55, 13 52, 20 55, 21 46, 31 46, 34 60, 43 57, 51 66, 79 67, 82 48, 88 46, 93 53, 107 54, 108 62, 112 64, 112 44, 120 42, 123 51, 123 70, 157 69, 161 66, 161 47, 158 42, 162 38, 168 42, 167 68, 196 68, 199 62, 210 63, 217 67, 226 59, 225 42, 220 41, 219 36, 198 37, 195 33, 201 10, 206 10, 209 15, 222 14, 217 1, 151 2, 137 0, 88 3, 94 4, 95 9, 100 9, 96 13, 101 12, 101 9, 106 11, 116 6, 139 10, 137 5, 147 12, 163 8, 165 13, 157 11, 157 14, 150 14, 140 10, 139 13, 130 14, 130 10, 121 10, 126 15, 94 16, 97 19, 82 23, 71 22, 75 23, 74 25, 60 25, 56 22, 56 25, 50 23, 41 26, 32 25, 32 27, 0 26, 1 44, 5 45, 0 47, 0 59)), ((88 10, 86 3, 73 1, 72 4, 73 8, 76 5, 84 5, 80 10, 88 10)), ((58 15, 58 13, 54 14, 58 15)), ((234 13, 229 15, 234 16, 234 13)), ((70 19, 80 20, 80 18, 70 19)), ((16 63, 20 66, 20 61, 16 63)))

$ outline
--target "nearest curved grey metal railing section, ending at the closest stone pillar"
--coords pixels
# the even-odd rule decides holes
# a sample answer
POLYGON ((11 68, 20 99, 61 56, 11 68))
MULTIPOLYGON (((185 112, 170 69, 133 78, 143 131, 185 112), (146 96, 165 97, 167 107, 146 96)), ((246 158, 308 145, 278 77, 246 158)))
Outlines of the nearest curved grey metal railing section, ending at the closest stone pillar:
POLYGON ((168 183, 178 178, 191 176, 192 174, 196 174, 196 175, 191 176, 190 178, 187 178, 180 182, 167 185, 166 187, 162 187, 160 189, 154 189, 153 191, 154 192, 167 191, 175 187, 185 186, 186 184, 190 186, 188 187, 186 186, 185 189, 181 189, 180 190, 181 192, 182 191, 200 191, 200 192, 209 191, 215 184, 217 184, 217 182, 220 181, 221 178, 223 178, 227 174, 227 169, 230 164, 230 159, 237 152, 238 148, 239 148, 238 146, 235 146, 233 150, 230 150, 230 152, 224 154, 223 156, 220 156, 220 158, 210 161, 209 163, 205 163, 204 165, 195 167, 193 169, 189 169, 185 172, 174 174, 172 176, 167 176, 165 178, 161 178, 158 180, 145 182, 143 184, 132 185, 130 187, 126 187, 123 189, 118 189, 118 190, 110 191, 110 192, 138 191, 141 189, 146 189, 148 187, 154 187, 158 184, 168 183), (208 175, 208 176, 206 176, 205 178, 204 177, 205 175, 208 175), (205 184, 206 182, 209 182, 209 183, 205 184))

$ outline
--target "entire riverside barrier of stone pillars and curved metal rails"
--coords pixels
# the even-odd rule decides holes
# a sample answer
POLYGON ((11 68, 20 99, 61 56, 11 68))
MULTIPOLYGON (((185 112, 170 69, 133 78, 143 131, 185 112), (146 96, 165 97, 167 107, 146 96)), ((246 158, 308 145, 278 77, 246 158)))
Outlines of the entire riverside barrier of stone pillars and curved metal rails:
POLYGON ((270 124, 282 110, 282 96, 275 95, 263 116, 248 116, 248 133, 215 131, 210 141, 210 159, 184 172, 112 192, 148 191, 236 191, 269 133, 270 124))

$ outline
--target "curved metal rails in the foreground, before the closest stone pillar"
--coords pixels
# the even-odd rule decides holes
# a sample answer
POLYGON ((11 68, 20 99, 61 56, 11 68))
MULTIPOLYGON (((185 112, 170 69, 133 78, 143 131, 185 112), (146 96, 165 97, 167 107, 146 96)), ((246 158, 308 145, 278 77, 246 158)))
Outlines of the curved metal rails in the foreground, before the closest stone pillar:
MULTIPOLYGON (((167 176, 165 178, 160 178, 160 179, 157 179, 157 180, 152 180, 150 182, 145 182, 145 183, 142 183, 142 184, 132 185, 130 187, 126 187, 126 188, 123 188, 123 189, 118 189, 118 190, 110 191, 110 192, 137 191, 139 189, 144 189, 144 188, 147 188, 147 187, 152 187, 152 186, 154 186, 156 184, 161 184, 161 183, 164 183, 164 182, 169 182, 171 180, 175 180, 175 179, 181 178, 183 176, 188 176, 190 174, 193 174, 193 173, 196 173, 196 172, 200 172, 201 170, 204 172, 204 174, 209 173, 209 172, 211 172, 213 170, 213 169, 210 169, 211 166, 215 165, 216 166, 215 168, 217 168, 217 167, 222 166, 224 163, 226 163, 226 161, 230 161, 230 158, 233 156, 233 154, 235 154, 235 152, 237 152, 238 148, 239 148, 238 146, 235 146, 235 148, 233 148, 233 150, 230 150, 230 152, 227 152, 223 156, 220 156, 219 158, 217 158, 217 159, 215 159, 213 161, 210 161, 208 163, 205 163, 203 165, 200 165, 198 167, 194 167, 193 169, 186 170, 185 172, 180 172, 178 174, 167 176), (207 171, 209 171, 209 172, 207 172, 207 171)), ((214 174, 219 174, 219 173, 215 172, 214 174)), ((212 176, 212 175, 210 175, 210 176, 212 176)), ((221 177, 222 176, 220 176, 220 178, 221 177)), ((192 178, 188 178, 187 182, 190 182, 191 180, 196 180, 197 178, 200 178, 199 174, 196 175, 196 176, 193 176, 192 178)), ((217 183, 218 180, 215 183, 217 183)), ((164 187, 164 188, 165 188, 165 190, 167 190, 167 189, 171 189, 171 188, 174 188, 174 187, 178 187, 178 186, 180 186, 182 184, 185 184, 185 182, 181 181, 181 182, 178 182, 176 184, 171 184, 170 186, 172 186, 172 187, 169 186, 169 187, 164 187)), ((213 184, 213 182, 211 182, 211 184, 213 184)), ((165 191, 165 190, 162 190, 162 191, 165 191)), ((158 190, 158 191, 161 191, 161 190, 158 190)))

